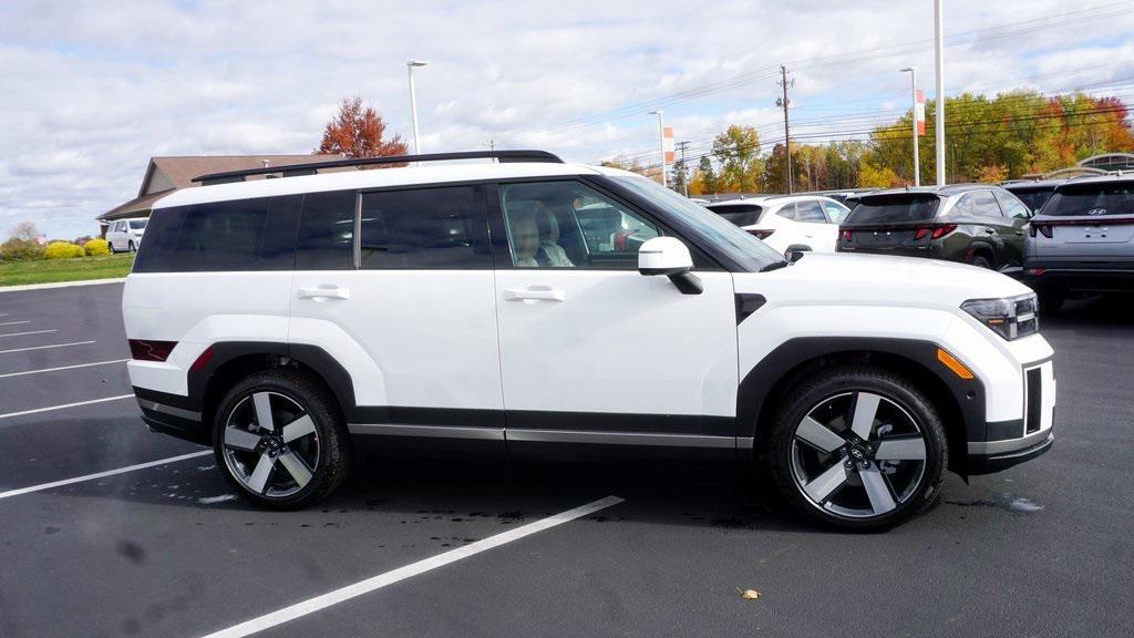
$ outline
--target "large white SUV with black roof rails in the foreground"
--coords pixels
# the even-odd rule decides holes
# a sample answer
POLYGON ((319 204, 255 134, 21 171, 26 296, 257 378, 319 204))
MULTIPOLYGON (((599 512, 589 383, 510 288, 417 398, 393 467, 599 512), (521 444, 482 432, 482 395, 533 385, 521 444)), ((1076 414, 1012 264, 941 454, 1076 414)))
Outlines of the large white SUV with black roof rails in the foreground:
POLYGON ((1051 446, 1052 352, 1005 276, 788 263, 649 179, 539 151, 332 163, 417 161, 154 204, 122 299, 134 392, 255 503, 314 503, 366 443, 693 453, 767 457, 802 512, 886 527, 946 469, 1051 446), (499 163, 428 163, 465 158, 499 163))

